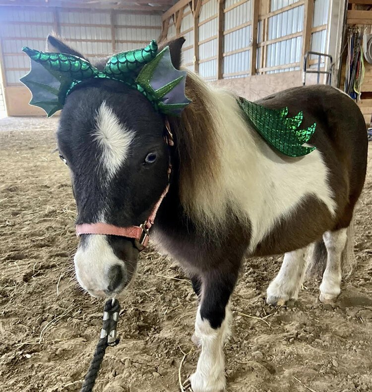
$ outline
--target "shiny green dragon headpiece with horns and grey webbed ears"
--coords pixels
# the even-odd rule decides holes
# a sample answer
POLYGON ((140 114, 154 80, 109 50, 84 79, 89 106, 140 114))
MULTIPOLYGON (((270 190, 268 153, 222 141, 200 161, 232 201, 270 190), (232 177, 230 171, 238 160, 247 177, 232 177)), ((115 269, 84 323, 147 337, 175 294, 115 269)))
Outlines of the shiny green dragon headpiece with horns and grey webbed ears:
POLYGON ((48 117, 61 110, 68 94, 88 79, 123 82, 165 114, 180 115, 190 103, 185 96, 186 71, 174 68, 169 47, 158 53, 154 40, 146 48, 110 57, 103 71, 77 56, 22 50, 30 57, 31 70, 20 80, 32 93, 30 105, 44 109, 48 117))

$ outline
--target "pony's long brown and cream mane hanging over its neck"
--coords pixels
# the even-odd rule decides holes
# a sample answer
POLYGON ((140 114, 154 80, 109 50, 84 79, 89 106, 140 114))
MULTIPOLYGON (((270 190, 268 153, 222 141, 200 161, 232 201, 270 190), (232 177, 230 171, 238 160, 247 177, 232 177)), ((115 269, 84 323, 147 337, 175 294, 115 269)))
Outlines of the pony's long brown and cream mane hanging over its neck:
POLYGON ((230 159, 226 150, 227 144, 235 144, 227 140, 234 138, 230 128, 245 124, 235 96, 208 86, 192 72, 187 72, 186 96, 192 103, 183 111, 176 130, 180 200, 196 225, 208 224, 213 230, 223 223, 229 210, 237 214, 241 210, 233 205, 230 194, 228 177, 232 173, 227 169, 230 159))

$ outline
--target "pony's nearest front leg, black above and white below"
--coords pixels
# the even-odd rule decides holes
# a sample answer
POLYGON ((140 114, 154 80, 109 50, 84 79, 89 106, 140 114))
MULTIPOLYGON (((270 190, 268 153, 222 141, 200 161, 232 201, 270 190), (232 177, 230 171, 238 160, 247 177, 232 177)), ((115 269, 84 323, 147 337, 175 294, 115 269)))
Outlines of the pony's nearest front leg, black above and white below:
POLYGON ((225 390, 225 358, 223 345, 230 334, 229 299, 237 271, 212 273, 202 277, 201 302, 197 310, 194 336, 201 345, 196 371, 190 376, 193 392, 225 390))

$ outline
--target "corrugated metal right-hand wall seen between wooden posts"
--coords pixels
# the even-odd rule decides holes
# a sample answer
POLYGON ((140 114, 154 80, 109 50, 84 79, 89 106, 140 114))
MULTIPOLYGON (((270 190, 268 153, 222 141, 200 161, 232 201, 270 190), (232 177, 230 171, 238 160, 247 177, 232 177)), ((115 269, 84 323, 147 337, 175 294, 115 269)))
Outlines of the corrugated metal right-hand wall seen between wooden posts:
MULTIPOLYGON (((258 32, 257 74, 299 70, 303 62, 305 4, 308 0, 256 0, 258 32)), ((330 0, 314 0, 310 48, 325 52, 330 0)), ((252 51, 253 0, 225 0, 223 4, 222 78, 246 77, 250 74, 252 51)), ((217 78, 218 1, 203 0, 199 12, 198 71, 208 80, 217 78)), ((310 5, 309 5, 310 7, 310 5)), ((310 7, 311 9, 311 7, 310 7)), ((181 35, 186 37, 184 62, 193 69, 193 17, 188 6, 183 10, 181 35)), ((176 37, 173 18, 167 38, 176 37)), ((308 34, 308 33, 307 33, 308 34)), ((313 62, 313 61, 312 61, 313 62)), ((254 67, 253 67, 254 68, 254 67)))

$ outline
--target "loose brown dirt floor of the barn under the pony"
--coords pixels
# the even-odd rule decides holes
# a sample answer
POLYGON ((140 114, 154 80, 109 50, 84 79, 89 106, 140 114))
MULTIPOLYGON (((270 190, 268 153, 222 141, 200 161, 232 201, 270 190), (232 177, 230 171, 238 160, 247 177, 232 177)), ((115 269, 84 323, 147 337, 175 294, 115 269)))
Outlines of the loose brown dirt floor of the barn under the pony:
MULTIPOLYGON (((3 392, 79 391, 101 329, 104 301, 73 279, 75 206, 68 170, 51 153, 56 127, 55 118, 0 120, 3 392)), ((246 262, 225 347, 228 392, 372 391, 371 153, 372 145, 356 214, 358 268, 335 307, 306 282, 299 301, 270 308, 264 293, 280 258, 246 262)), ((107 350, 95 391, 178 391, 182 350, 192 349, 183 380, 198 355, 190 341, 197 302, 184 279, 153 249, 142 254, 121 300, 121 342, 107 350)))

